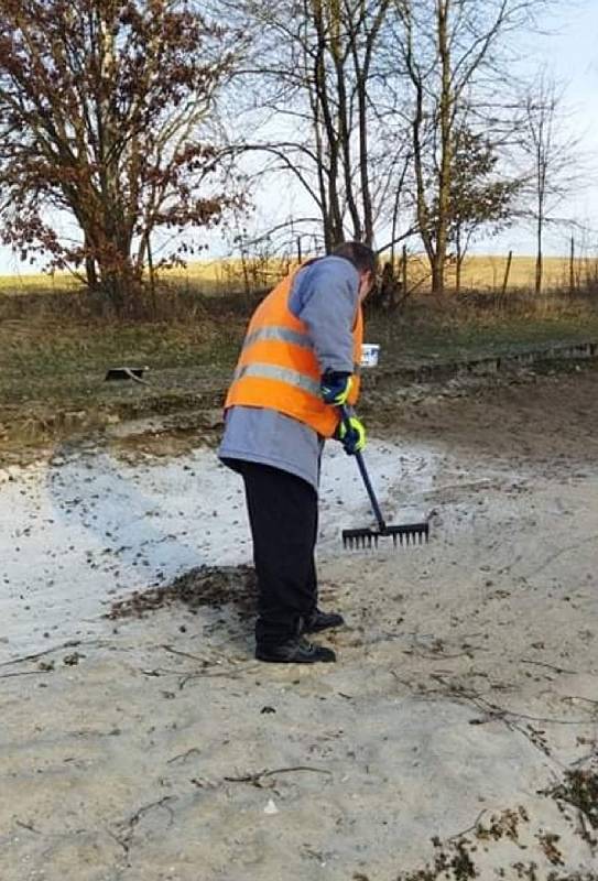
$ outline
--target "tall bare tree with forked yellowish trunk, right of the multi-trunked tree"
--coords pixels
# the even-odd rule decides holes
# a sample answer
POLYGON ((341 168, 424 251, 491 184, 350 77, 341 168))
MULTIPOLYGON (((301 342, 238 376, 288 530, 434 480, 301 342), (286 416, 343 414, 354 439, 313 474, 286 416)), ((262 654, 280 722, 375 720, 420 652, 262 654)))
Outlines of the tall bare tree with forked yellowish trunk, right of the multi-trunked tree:
POLYGON ((444 290, 454 199, 456 132, 464 111, 483 115, 508 81, 504 51, 545 0, 396 0, 402 22, 398 68, 411 88, 411 138, 416 215, 432 289, 444 290))

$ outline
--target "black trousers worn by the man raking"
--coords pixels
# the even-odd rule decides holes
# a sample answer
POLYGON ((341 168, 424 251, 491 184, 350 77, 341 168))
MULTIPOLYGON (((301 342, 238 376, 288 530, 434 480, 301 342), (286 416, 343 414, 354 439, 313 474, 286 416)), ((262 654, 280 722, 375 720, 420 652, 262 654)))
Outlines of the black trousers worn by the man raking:
POLYGON ((258 576, 255 640, 275 645, 296 638, 317 606, 317 493, 306 480, 268 465, 243 461, 238 470, 258 576))

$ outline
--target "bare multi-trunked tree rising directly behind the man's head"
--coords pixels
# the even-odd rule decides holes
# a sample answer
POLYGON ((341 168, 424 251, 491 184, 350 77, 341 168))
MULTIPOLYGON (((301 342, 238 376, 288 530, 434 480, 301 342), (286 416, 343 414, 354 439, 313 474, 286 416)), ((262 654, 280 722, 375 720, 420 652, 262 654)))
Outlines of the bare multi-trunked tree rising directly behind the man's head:
POLYGON ((239 76, 247 118, 265 119, 248 123, 253 137, 239 149, 269 157, 262 172, 294 178, 322 217, 326 250, 346 236, 371 243, 392 192, 398 146, 389 152, 377 131, 379 46, 390 7, 391 0, 243 0, 227 13, 253 29, 254 55, 239 76))

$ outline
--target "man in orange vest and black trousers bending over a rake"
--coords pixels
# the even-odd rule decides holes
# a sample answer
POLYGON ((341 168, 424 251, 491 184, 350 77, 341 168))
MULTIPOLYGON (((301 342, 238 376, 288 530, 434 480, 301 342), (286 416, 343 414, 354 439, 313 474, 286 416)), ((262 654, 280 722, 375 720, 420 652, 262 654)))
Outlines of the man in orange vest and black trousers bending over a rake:
POLYGON ((361 303, 374 274, 373 251, 347 242, 283 279, 251 318, 228 391, 218 455, 244 481, 260 661, 336 661, 303 635, 344 623, 317 607, 319 464, 327 437, 348 454, 366 443, 361 422, 347 424, 339 407, 358 398, 361 303))

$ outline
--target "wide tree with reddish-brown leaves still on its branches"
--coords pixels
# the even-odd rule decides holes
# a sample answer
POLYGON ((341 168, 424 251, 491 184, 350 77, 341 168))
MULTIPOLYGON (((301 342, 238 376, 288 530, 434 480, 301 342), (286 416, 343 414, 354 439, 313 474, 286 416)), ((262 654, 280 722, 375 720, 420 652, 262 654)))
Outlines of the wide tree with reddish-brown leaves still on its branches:
POLYGON ((84 268, 126 308, 152 232, 214 224, 230 200, 206 188, 217 151, 199 138, 231 64, 221 36, 178 0, 4 0, 3 241, 84 268), (61 240, 57 210, 80 241, 61 240))

